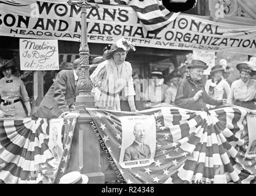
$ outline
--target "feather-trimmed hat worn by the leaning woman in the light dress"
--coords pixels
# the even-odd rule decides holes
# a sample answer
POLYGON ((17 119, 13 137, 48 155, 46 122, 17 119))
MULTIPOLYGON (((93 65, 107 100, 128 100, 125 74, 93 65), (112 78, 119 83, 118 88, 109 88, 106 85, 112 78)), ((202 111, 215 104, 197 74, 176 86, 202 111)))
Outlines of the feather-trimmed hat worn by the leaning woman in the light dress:
POLYGON ((103 53, 103 58, 104 59, 110 59, 113 56, 114 52, 117 51, 126 51, 129 52, 130 50, 135 51, 134 45, 130 43, 128 40, 121 38, 116 41, 116 43, 112 45, 108 45, 107 50, 104 51, 103 53))

